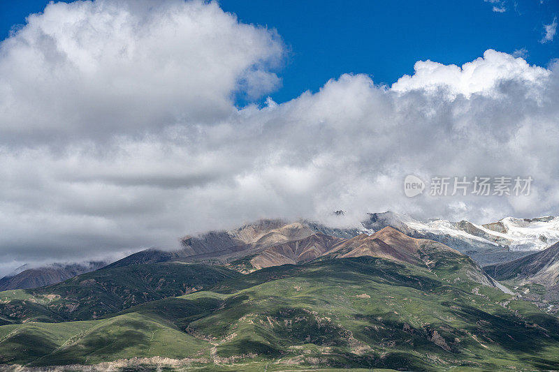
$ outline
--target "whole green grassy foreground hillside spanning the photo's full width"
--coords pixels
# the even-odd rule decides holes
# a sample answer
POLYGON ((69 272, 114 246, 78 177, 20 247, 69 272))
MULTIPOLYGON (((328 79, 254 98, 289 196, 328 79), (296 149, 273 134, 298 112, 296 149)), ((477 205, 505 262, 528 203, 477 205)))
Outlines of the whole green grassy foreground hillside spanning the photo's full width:
POLYGON ((29 365, 164 356, 208 371, 559 369, 558 318, 442 262, 269 267, 101 320, 4 325, 0 355, 29 365))

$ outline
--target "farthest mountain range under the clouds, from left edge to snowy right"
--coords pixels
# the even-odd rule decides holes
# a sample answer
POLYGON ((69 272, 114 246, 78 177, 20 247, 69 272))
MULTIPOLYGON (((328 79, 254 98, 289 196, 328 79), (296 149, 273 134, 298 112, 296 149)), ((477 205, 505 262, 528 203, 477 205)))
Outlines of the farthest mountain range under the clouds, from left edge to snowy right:
MULTIPOLYGON (((337 214, 343 218, 341 211, 337 214)), ((325 253, 342 239, 351 239, 363 233, 374 234, 386 227, 395 228, 410 237, 438 241, 470 255, 479 265, 508 262, 559 241, 557 217, 508 217, 494 223, 477 225, 469 221, 455 223, 442 219, 419 221, 411 216, 388 211, 369 214, 361 224, 349 228, 332 228, 312 221, 263 219, 233 230, 216 230, 203 235, 187 236, 182 239, 182 248, 179 250, 150 248, 113 262, 110 266, 179 260, 227 263, 250 271, 272 265, 306 262, 325 253), (251 255, 254 255, 252 263, 246 259, 251 255), (261 262, 257 262, 258 260, 261 262)), ((86 262, 27 269, 0 279, 0 289, 36 288, 58 283, 102 265, 104 264, 86 262)))

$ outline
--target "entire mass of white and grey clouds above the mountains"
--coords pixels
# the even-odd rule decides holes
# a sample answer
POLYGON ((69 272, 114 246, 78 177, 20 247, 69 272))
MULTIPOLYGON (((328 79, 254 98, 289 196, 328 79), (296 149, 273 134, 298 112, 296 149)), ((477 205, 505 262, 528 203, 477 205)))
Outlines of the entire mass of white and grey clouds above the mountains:
POLYGON ((488 50, 461 67, 419 61, 392 87, 342 75, 238 110, 233 94, 277 84, 278 36, 215 3, 146 4, 53 4, 1 45, 1 262, 173 247, 337 209, 348 212, 337 223, 386 209, 476 222, 557 213, 557 64, 488 50), (405 198, 406 174, 531 175, 534 194, 405 198))

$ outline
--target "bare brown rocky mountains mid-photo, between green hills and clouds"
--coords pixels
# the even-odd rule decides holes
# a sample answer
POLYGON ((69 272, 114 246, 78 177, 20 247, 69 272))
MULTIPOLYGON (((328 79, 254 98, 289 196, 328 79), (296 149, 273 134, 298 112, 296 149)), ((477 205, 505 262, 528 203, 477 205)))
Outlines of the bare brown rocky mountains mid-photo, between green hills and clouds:
MULTIPOLYGON (((149 249, 130 255, 108 267, 169 261, 206 262, 226 265, 242 273, 249 273, 264 267, 300 264, 326 254, 337 257, 368 255, 416 265, 426 265, 423 258, 428 257, 424 251, 428 248, 431 251, 447 251, 453 255, 463 255, 459 250, 444 244, 444 241, 451 243, 456 241, 427 239, 437 236, 419 234, 410 228, 412 224, 409 221, 414 220, 411 218, 395 220, 394 216, 395 214, 371 215, 370 221, 365 221, 361 228, 348 229, 328 228, 307 221, 287 223, 281 220, 261 220, 234 230, 185 237, 182 240, 183 248, 178 251, 149 249), (391 221, 396 221, 393 223, 394 228, 386 223, 386 218, 389 216, 391 221), (409 225, 404 222, 408 222, 409 225)), ((467 233, 457 231, 460 232, 463 240, 459 240, 460 244, 456 245, 463 247, 467 233)), ((471 248, 471 246, 467 247, 471 248)), ((474 276, 478 277, 480 283, 483 281, 487 285, 494 285, 477 264, 472 262, 472 265, 475 267, 472 266, 471 271, 477 273, 474 276)))

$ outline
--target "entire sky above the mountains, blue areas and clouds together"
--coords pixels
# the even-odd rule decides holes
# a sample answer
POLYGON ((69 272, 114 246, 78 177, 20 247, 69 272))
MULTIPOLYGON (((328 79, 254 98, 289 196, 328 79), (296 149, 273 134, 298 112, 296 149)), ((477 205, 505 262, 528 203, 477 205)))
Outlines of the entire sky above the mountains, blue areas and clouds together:
POLYGON ((558 4, 1 1, 0 274, 257 218, 557 215, 558 4))

